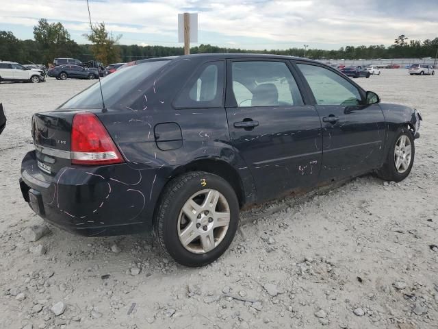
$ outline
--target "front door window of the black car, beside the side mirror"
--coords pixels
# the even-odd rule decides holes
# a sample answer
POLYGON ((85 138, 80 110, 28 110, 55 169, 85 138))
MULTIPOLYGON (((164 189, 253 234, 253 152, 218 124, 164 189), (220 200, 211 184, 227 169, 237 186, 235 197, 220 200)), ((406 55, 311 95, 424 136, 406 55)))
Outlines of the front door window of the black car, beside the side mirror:
POLYGON ((357 106, 361 103, 359 90, 333 71, 311 64, 297 65, 318 105, 357 106))

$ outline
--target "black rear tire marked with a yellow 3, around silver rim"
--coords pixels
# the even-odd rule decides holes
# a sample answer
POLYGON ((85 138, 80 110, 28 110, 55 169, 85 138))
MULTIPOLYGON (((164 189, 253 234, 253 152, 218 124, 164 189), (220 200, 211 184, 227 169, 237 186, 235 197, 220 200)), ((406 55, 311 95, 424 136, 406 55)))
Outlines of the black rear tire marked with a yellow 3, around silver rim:
MULTIPOLYGON (((198 202, 196 202, 196 204, 197 203, 198 202)), ((227 212, 227 210, 224 209, 222 209, 222 214, 227 212)), ((238 222, 239 202, 231 185, 218 175, 205 173, 203 171, 194 171, 177 176, 164 188, 153 220, 153 237, 155 243, 163 252, 171 256, 181 265, 201 267, 214 262, 214 260, 218 259, 227 250, 233 241, 238 222), (207 211, 208 214, 206 214, 205 208, 202 207, 205 199, 201 199, 201 205, 198 204, 199 212, 197 216, 195 208, 191 208, 191 205, 195 202, 193 199, 194 195, 201 193, 200 195, 202 196, 204 191, 216 191, 220 195, 218 201, 216 201, 218 206, 223 204, 223 200, 227 202, 228 207, 224 208, 229 210, 229 223, 227 228, 225 226, 213 228, 215 224, 220 222, 220 220, 216 219, 216 215, 220 209, 216 212, 217 208, 214 208, 214 210, 211 210, 213 208, 209 208, 211 212, 207 211), (192 203, 188 205, 189 200, 191 200, 192 203), (187 212, 183 212, 184 206, 190 208, 189 213, 192 219, 189 219, 189 217, 185 215, 187 212), (212 217, 215 219, 209 217, 212 214, 214 214, 212 217), (183 220, 185 221, 185 226, 181 227, 183 220), (185 230, 190 227, 190 231, 185 230), (203 232, 204 230, 206 231, 205 233, 203 232), (183 235, 182 233, 185 231, 193 233, 191 235, 186 234, 188 235, 186 237, 188 241, 186 246, 181 243, 179 237, 179 234, 183 235), (214 236, 215 244, 218 243, 218 245, 205 251, 205 247, 201 241, 201 234, 203 236, 206 234, 218 234, 218 239, 214 236), (220 241, 217 242, 217 240, 220 241)), ((183 238, 181 237, 181 239, 183 238)), ((204 241, 206 242, 211 241, 210 239, 205 239, 206 238, 204 238, 204 241)), ((206 245, 208 245, 208 243, 206 243, 206 245)))

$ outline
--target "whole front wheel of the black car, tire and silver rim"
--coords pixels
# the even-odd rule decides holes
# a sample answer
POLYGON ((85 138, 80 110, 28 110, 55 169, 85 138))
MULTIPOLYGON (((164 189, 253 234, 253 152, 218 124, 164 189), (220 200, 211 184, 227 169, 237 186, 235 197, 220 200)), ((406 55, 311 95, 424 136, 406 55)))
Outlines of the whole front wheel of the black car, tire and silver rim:
POLYGON ((411 172, 414 156, 413 134, 407 127, 402 127, 389 148, 385 164, 377 172, 378 176, 394 182, 404 180, 411 172))

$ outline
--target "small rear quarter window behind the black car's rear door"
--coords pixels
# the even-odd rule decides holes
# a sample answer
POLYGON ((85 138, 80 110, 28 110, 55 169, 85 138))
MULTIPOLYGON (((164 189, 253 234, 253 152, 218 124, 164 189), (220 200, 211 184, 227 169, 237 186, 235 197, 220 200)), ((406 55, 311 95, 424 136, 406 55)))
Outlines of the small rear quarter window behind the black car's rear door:
POLYGON ((186 84, 175 100, 175 108, 215 108, 222 106, 224 62, 208 62, 186 84))

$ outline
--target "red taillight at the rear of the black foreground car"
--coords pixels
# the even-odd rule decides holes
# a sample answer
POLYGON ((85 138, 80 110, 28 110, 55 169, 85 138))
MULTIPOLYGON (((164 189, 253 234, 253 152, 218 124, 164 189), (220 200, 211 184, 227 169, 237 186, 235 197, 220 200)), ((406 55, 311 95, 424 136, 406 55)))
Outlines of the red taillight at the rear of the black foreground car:
POLYGON ((110 134, 92 113, 73 117, 71 129, 72 164, 114 164, 124 162, 110 134))

